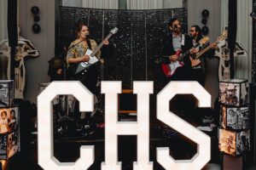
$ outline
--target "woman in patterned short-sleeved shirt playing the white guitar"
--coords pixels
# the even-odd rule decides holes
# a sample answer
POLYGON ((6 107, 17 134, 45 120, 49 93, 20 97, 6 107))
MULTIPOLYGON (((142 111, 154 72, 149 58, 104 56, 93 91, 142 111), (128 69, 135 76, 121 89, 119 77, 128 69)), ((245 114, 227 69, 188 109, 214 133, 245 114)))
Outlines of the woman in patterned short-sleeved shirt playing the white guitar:
MULTIPOLYGON (((76 29, 77 39, 71 42, 69 50, 67 51, 67 65, 69 68, 73 67, 80 62, 88 62, 90 59, 89 55, 86 55, 85 52, 87 49, 94 51, 97 48, 97 43, 95 40, 89 37, 90 31, 88 26, 83 23, 80 23, 76 29)), ((109 42, 104 40, 104 45, 108 45, 109 42)), ((99 58, 101 52, 99 51, 96 56, 99 58)), ((69 69, 71 72, 72 69, 69 69)), ((90 90, 92 94, 96 94, 96 82, 98 77, 97 65, 91 65, 90 68, 86 71, 84 75, 76 77, 69 73, 69 76, 72 79, 79 80, 84 84, 86 88, 90 90)))

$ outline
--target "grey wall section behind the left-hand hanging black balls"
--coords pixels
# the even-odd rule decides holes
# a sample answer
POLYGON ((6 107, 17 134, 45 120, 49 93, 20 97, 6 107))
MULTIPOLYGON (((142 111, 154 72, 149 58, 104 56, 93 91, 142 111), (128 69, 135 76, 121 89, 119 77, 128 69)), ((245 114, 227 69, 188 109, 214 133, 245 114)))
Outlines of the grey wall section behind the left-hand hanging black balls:
POLYGON ((54 0, 20 0, 19 1, 19 24, 21 36, 31 40, 40 52, 36 59, 26 59, 26 91, 25 99, 37 101, 38 84, 49 82, 47 75, 48 60, 55 54, 55 1, 54 0), (41 20, 41 32, 32 32, 33 16, 32 6, 38 6, 41 20))

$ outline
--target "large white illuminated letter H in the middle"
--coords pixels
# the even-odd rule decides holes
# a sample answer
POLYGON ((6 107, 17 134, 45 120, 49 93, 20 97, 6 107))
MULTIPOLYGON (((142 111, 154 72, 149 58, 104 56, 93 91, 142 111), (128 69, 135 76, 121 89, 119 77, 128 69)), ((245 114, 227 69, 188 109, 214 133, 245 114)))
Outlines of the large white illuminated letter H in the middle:
POLYGON ((137 122, 118 122, 118 94, 121 82, 102 82, 105 94, 105 162, 102 170, 120 170, 118 162, 118 135, 137 135, 137 162, 133 170, 153 170, 149 161, 149 94, 153 94, 153 82, 133 82, 137 94, 137 122))

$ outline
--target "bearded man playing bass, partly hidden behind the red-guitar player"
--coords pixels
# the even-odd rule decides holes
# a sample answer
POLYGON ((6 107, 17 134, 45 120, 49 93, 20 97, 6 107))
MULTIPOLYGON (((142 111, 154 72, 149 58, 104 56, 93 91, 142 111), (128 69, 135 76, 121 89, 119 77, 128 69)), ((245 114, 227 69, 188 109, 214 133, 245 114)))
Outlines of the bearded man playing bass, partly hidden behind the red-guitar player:
MULTIPOLYGON (((202 38, 201 28, 199 26, 191 26, 190 37, 193 39, 193 45, 195 46, 202 38)), ((212 58, 214 55, 214 49, 216 48, 216 44, 211 44, 211 48, 201 56, 200 59, 192 59, 191 61, 191 77, 193 81, 197 81, 201 84, 201 86, 205 86, 206 84, 206 58, 212 58)), ((198 52, 199 49, 195 49, 195 52, 198 52)))

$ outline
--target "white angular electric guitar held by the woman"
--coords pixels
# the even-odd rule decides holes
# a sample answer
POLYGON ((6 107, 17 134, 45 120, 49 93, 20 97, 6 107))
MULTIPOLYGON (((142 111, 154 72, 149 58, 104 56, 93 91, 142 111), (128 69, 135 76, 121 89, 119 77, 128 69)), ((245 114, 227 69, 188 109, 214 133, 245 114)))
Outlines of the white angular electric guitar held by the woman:
MULTIPOLYGON (((117 27, 113 28, 111 31, 109 31, 108 36, 103 41, 108 40, 117 31, 117 27)), ((91 51, 90 49, 86 50, 85 55, 89 55, 90 59, 88 62, 80 62, 78 65, 76 65, 76 69, 73 73, 75 77, 79 76, 84 71, 86 71, 90 67, 90 65, 94 65, 96 62, 99 61, 99 59, 96 57, 96 53, 102 48, 103 41, 98 45, 98 47, 94 51, 91 51)))

